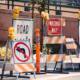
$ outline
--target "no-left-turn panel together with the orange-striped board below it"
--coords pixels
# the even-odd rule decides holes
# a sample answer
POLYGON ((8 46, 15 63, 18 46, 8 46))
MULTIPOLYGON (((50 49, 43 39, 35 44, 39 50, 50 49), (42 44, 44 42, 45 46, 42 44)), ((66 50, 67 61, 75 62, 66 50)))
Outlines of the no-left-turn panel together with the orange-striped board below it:
POLYGON ((14 64, 15 72, 19 74, 33 73, 35 78, 36 67, 35 67, 32 51, 30 50, 31 46, 29 44, 30 44, 29 40, 13 42, 12 63, 14 64))

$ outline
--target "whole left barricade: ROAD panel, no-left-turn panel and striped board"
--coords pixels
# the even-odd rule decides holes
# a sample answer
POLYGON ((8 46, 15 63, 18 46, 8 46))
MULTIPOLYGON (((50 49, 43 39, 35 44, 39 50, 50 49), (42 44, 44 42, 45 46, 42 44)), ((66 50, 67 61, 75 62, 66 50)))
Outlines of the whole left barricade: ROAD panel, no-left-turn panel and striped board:
POLYGON ((35 77, 35 63, 33 60, 33 19, 18 18, 13 20, 15 40, 12 43, 14 69, 18 73, 33 73, 35 77))

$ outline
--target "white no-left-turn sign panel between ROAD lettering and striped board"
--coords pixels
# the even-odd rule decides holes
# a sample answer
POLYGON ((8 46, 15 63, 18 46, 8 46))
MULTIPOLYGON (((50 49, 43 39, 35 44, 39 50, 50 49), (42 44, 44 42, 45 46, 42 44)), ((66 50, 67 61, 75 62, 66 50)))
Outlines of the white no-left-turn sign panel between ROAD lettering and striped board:
POLYGON ((15 63, 32 62, 30 46, 24 41, 18 41, 14 43, 13 54, 15 63))

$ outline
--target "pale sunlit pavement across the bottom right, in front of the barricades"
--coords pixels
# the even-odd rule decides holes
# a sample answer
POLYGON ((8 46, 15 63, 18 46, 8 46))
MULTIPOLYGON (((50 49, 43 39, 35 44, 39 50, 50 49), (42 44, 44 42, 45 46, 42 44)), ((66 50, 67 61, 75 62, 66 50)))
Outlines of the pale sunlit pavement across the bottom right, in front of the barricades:
POLYGON ((73 72, 69 74, 44 74, 36 75, 36 79, 30 80, 80 80, 80 72, 73 72))

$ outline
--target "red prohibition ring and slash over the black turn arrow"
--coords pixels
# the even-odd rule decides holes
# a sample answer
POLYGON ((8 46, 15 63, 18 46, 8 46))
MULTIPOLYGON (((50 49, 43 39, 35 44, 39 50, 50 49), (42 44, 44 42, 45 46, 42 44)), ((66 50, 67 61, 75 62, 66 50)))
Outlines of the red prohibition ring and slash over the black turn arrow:
POLYGON ((14 46, 14 50, 13 51, 14 51, 14 55, 15 55, 16 59, 19 60, 20 62, 26 62, 26 61, 28 61, 30 59, 30 54, 31 54, 30 48, 24 42, 17 42, 15 44, 15 46, 14 46), (24 51, 20 47, 18 47, 18 45, 24 45, 26 47, 26 49, 28 49, 29 53, 24 53, 24 51), (25 54, 25 59, 24 60, 20 59, 20 56, 16 55, 16 52, 15 52, 16 50, 18 52, 22 53, 22 54, 25 54))

